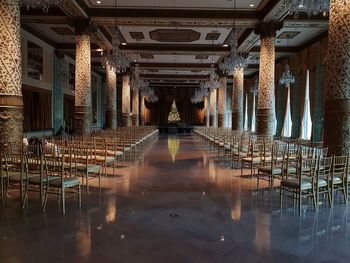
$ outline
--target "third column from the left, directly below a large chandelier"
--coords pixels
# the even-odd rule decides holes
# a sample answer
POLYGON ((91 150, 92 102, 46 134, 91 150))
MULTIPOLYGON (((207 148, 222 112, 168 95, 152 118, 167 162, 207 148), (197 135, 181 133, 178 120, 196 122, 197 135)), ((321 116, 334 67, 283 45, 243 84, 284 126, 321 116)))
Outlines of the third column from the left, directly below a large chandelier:
POLYGON ((106 67, 106 127, 117 128, 117 75, 106 67))

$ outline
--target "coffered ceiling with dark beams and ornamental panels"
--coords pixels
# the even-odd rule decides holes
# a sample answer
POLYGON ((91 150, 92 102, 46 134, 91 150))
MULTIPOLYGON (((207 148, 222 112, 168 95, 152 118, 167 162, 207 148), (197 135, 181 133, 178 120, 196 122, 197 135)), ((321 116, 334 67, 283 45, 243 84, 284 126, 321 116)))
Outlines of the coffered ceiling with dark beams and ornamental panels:
POLYGON ((246 76, 258 70, 260 41, 253 29, 259 21, 284 21, 277 32, 276 59, 326 37, 327 18, 301 16, 295 20, 288 16, 284 2, 236 0, 233 10, 233 0, 65 0, 48 14, 23 7, 21 24, 24 30, 74 58, 75 23, 89 19, 95 71, 104 74, 100 50, 111 48, 117 29, 123 44, 120 48, 130 61, 140 64, 143 77, 157 85, 186 85, 186 80, 193 85, 207 77, 212 63, 217 66, 229 54, 233 24, 239 50, 249 54, 246 76))

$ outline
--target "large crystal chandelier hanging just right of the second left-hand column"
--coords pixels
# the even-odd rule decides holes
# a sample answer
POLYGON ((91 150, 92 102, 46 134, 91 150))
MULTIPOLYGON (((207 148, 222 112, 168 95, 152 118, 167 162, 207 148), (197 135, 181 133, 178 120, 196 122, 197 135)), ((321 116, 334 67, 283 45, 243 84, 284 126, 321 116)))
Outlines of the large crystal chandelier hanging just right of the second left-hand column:
MULTIPOLYGON (((114 8, 117 9, 117 0, 114 1, 114 8)), ((120 41, 118 35, 117 18, 114 18, 114 36, 112 39, 112 50, 103 54, 102 65, 110 67, 115 73, 125 72, 130 67, 130 61, 119 49, 120 41)))

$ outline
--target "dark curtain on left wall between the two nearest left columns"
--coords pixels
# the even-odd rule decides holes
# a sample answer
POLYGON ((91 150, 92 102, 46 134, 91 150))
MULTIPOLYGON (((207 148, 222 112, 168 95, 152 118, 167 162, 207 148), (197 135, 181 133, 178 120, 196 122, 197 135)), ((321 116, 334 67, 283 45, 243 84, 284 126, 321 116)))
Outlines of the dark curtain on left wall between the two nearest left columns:
POLYGON ((23 87, 24 131, 51 129, 51 92, 23 87))

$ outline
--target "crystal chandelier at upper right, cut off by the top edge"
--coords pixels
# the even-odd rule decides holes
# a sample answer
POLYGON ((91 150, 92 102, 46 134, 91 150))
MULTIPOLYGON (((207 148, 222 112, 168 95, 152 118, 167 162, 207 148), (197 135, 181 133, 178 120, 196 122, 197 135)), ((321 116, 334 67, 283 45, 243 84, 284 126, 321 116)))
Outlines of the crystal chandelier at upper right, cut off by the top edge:
POLYGON ((306 12, 309 17, 318 15, 328 16, 329 0, 285 0, 289 14, 297 19, 300 12, 306 12))

